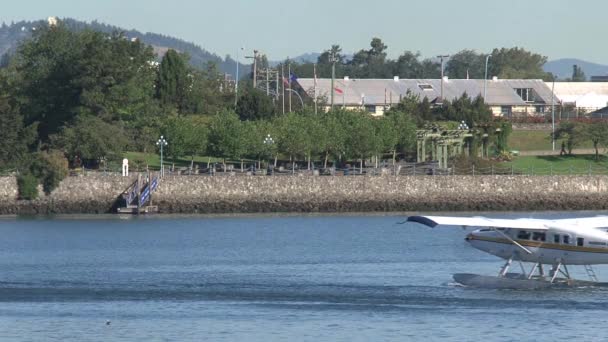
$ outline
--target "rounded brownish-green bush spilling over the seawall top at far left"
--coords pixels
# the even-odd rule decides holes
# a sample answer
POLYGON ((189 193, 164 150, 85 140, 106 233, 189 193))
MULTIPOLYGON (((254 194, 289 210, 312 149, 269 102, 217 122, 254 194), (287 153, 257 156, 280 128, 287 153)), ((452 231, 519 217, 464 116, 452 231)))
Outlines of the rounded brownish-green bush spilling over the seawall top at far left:
POLYGON ((67 177, 68 161, 60 151, 38 152, 30 171, 41 181, 44 193, 49 195, 67 177))

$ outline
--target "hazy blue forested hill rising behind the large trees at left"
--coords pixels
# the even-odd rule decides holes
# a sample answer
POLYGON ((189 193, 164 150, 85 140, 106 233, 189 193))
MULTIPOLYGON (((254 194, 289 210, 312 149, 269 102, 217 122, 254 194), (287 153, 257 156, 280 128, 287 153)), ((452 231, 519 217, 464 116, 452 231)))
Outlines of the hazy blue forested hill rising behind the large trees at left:
MULTIPOLYGON (((214 53, 202 49, 200 46, 184 41, 182 39, 165 36, 156 33, 142 33, 137 30, 126 30, 117 26, 107 25, 93 21, 87 23, 75 19, 65 18, 61 19, 70 29, 73 30, 84 30, 92 29, 104 33, 112 33, 114 31, 124 32, 128 38, 137 38, 142 42, 151 45, 154 48, 154 52, 161 58, 168 49, 174 49, 180 52, 185 52, 190 56, 190 64, 197 68, 204 68, 207 62, 213 62, 218 66, 221 72, 229 73, 234 75, 236 62, 235 60, 227 57, 222 58, 214 53)), ((19 44, 31 37, 32 31, 46 21, 20 21, 17 23, 11 23, 7 25, 2 23, 0 25, 0 56, 7 52, 14 51, 19 44)), ((239 74, 241 76, 249 72, 249 65, 240 65, 239 74)))

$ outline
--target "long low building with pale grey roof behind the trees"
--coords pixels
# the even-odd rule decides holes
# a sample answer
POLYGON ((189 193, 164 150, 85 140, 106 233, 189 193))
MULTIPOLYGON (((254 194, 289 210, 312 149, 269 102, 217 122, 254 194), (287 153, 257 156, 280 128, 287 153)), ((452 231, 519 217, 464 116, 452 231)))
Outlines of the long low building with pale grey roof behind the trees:
MULTIPOLYGON (((331 79, 300 78, 299 86, 307 96, 317 98, 329 109, 331 79)), ((334 106, 364 109, 373 115, 383 115, 392 105, 411 93, 438 104, 454 100, 464 93, 470 97, 483 96, 496 116, 542 115, 557 103, 551 88, 542 80, 498 79, 343 79, 334 80, 334 106), (485 86, 485 91, 484 91, 485 86), (553 102, 552 102, 553 101, 553 102)))

